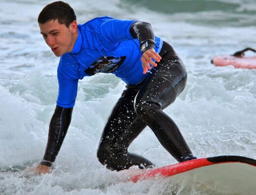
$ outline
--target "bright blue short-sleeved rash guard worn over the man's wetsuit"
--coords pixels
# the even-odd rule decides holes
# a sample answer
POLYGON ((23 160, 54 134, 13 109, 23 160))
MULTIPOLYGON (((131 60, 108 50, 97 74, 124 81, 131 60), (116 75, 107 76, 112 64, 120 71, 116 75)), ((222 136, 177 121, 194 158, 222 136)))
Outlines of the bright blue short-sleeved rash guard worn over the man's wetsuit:
MULTIPOLYGON (((78 37, 71 53, 61 56, 58 66, 59 94, 57 105, 75 105, 78 80, 96 73, 112 73, 126 84, 139 84, 143 74, 140 43, 130 34, 137 21, 110 17, 95 18, 78 25, 78 37)), ((155 37, 155 51, 160 52, 162 40, 155 37)))

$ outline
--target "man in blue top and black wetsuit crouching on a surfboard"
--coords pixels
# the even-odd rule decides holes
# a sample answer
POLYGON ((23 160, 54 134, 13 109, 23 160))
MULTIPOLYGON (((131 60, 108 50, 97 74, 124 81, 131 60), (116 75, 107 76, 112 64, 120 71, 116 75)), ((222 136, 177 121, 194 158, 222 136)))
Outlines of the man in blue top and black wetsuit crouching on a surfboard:
POLYGON ((195 159, 175 122, 162 111, 185 88, 185 66, 149 23, 99 17, 77 25, 70 5, 56 1, 43 8, 38 24, 46 44, 61 58, 57 105, 45 154, 35 171, 50 171, 71 121, 78 80, 96 73, 115 74, 127 84, 99 141, 97 158, 102 165, 111 170, 154 166, 128 152, 146 126, 178 162, 195 159))

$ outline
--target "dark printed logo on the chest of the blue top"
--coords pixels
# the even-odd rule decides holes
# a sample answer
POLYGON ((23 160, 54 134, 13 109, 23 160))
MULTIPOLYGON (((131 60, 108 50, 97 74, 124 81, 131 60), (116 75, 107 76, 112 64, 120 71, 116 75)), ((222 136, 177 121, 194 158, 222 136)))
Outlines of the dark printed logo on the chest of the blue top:
POLYGON ((125 61, 126 56, 111 57, 102 56, 92 63, 84 72, 89 76, 96 73, 111 73, 114 72, 125 61))

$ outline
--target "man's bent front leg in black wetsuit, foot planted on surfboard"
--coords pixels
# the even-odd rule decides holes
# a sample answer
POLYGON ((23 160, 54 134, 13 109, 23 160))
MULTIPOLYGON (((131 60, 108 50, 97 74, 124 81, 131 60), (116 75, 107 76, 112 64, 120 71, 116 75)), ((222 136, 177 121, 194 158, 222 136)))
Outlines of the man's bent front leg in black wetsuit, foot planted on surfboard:
POLYGON ((174 51, 168 52, 146 78, 134 103, 137 115, 153 130, 162 146, 178 162, 195 157, 177 125, 162 110, 174 102, 186 82, 187 72, 181 60, 174 51))

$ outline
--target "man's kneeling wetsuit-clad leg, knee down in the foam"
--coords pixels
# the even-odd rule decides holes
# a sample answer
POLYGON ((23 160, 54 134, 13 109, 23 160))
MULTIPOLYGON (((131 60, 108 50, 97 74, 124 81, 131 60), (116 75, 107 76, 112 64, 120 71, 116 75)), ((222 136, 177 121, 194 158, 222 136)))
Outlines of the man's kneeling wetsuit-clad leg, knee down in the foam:
POLYGON ((111 111, 103 130, 97 158, 112 170, 128 169, 133 165, 140 168, 153 165, 147 159, 128 152, 130 143, 141 133, 146 124, 134 111, 133 101, 140 86, 127 86, 111 111))

